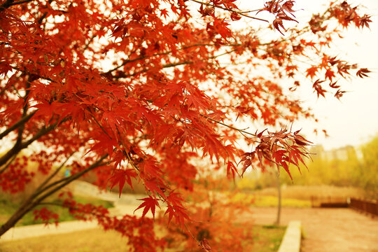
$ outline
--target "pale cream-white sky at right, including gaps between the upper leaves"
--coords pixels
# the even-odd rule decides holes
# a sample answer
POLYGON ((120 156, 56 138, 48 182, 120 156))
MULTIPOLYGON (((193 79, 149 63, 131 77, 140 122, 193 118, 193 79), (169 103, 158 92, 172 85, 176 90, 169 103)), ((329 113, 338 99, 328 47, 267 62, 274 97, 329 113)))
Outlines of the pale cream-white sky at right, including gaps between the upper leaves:
MULTIPOLYGON (((242 9, 253 10, 261 8, 264 2, 265 0, 239 0, 237 4, 242 9)), ((330 2, 330 0, 296 0, 293 7, 297 10, 295 17, 300 25, 304 25, 313 13, 323 13, 330 2)), ((332 52, 328 54, 351 64, 357 63, 361 68, 370 69, 372 71, 369 73, 370 78, 358 78, 353 72, 350 80, 340 79, 338 84, 342 84, 342 90, 348 91, 340 101, 332 94, 326 96, 326 99, 317 98, 308 79, 303 83, 300 81, 302 86, 296 94, 297 99, 311 108, 319 123, 315 124, 313 120, 299 120, 293 124, 293 129, 302 128, 301 133, 309 141, 323 145, 326 150, 346 145, 360 146, 378 134, 378 0, 349 0, 348 3, 352 7, 363 4, 360 6, 360 13, 372 15, 370 29, 344 30, 344 38, 334 41, 332 52), (323 134, 317 136, 314 134, 315 128, 319 132, 323 129, 327 130, 330 137, 325 138, 323 134)), ((270 22, 274 19, 266 11, 259 13, 258 18, 266 18, 270 22)), ((265 25, 263 22, 258 24, 256 20, 246 21, 251 26, 265 25)), ((294 22, 283 23, 285 27, 293 24, 294 22)), ((242 24, 235 24, 235 27, 237 26, 242 27, 242 24)), ((266 36, 274 36, 272 33, 279 34, 278 31, 268 31, 266 36)), ((286 81, 281 80, 281 84, 287 86, 286 81)))

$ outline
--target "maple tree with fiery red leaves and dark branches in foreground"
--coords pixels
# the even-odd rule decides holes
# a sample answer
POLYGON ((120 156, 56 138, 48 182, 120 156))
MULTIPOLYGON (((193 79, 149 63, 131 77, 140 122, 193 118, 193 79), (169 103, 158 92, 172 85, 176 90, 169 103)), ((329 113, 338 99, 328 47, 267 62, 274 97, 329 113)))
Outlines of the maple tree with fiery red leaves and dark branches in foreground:
MULTIPOLYGON (((291 122, 314 115, 288 92, 312 85, 318 97, 339 99, 344 91, 337 79, 369 73, 327 50, 343 28, 369 27, 368 15, 335 2, 297 24, 294 10, 295 1, 283 0, 251 11, 235 0, 1 1, 0 139, 11 143, 0 156, 1 190, 17 193, 35 173, 48 176, 0 235, 92 171, 102 188, 122 189, 137 179, 148 194, 139 206, 143 215, 165 209, 161 218, 170 228, 198 249, 216 251, 219 239, 212 245, 205 235, 188 235, 195 232, 192 221, 200 221, 193 216, 209 211, 183 200, 197 190, 196 179, 205 170, 233 178, 265 163, 290 174, 288 165, 299 166, 310 144, 291 122), (237 28, 246 20, 252 25, 237 28), (273 39, 260 35, 269 27, 273 39), (235 121, 271 130, 240 129, 235 121), (25 149, 36 171, 20 160, 25 149), (213 169, 195 165, 200 159, 213 169), (71 174, 59 177, 65 164, 71 174)), ((167 246, 150 218, 113 218, 67 193, 61 197, 62 207, 120 231, 135 251, 167 246)), ((36 216, 56 217, 45 210, 36 216)), ((225 247, 240 251, 235 246, 225 247)))

